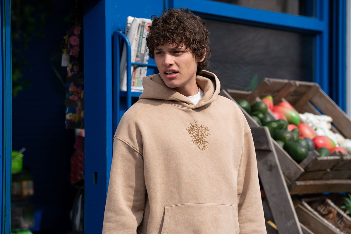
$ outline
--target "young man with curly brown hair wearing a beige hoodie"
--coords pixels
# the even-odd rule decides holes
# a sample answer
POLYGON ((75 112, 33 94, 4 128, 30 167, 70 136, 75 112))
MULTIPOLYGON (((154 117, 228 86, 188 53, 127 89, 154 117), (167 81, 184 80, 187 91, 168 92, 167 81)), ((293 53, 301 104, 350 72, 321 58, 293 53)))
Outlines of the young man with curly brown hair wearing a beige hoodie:
POLYGON ((154 16, 147 47, 160 74, 114 136, 104 234, 266 233, 250 127, 219 96, 204 21, 154 16))

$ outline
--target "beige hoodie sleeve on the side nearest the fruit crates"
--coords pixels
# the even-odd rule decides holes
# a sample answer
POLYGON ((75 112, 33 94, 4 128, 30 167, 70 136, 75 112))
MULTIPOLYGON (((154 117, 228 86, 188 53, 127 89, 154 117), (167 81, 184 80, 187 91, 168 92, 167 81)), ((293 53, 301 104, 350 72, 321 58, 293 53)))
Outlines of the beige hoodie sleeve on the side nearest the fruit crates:
POLYGON ((258 182, 257 161, 251 131, 244 135, 238 170, 238 221, 240 233, 265 234, 265 220, 258 182))

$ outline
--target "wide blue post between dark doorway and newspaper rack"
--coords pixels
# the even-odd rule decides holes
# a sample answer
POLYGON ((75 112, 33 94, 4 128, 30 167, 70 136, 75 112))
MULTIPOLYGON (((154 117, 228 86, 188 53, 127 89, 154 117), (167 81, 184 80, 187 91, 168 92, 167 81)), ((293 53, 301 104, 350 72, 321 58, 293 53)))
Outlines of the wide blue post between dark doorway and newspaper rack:
POLYGON ((102 232, 112 161, 112 32, 109 7, 108 0, 84 1, 86 234, 102 232))

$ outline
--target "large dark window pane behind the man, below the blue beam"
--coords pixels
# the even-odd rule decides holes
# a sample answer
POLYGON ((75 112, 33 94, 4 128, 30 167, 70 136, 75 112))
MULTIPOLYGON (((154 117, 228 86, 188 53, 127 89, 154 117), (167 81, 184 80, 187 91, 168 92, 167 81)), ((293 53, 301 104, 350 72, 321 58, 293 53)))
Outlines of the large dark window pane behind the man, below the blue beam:
POLYGON ((265 77, 313 81, 313 35, 205 21, 212 51, 206 70, 221 88, 245 90, 265 77))

